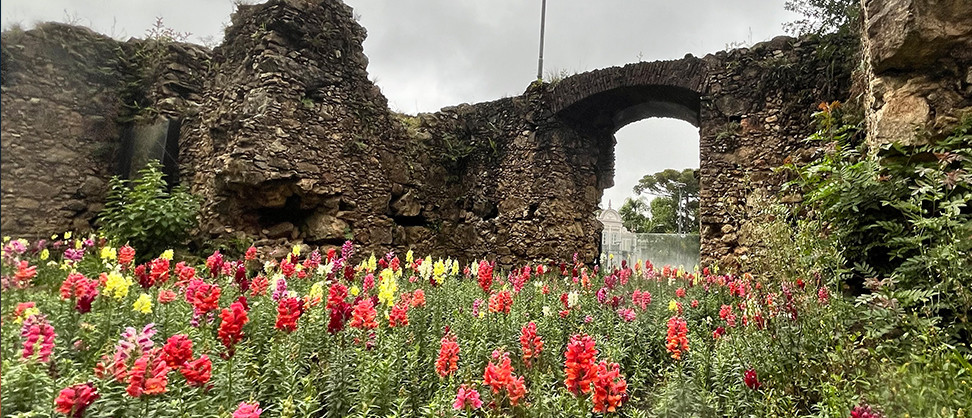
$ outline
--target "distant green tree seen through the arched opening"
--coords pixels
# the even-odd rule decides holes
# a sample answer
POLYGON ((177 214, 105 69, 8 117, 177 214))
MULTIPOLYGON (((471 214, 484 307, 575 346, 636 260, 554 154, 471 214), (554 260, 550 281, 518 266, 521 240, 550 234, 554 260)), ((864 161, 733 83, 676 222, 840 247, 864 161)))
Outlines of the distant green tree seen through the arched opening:
POLYGON ((651 232, 698 232, 699 180, 696 171, 668 169, 648 174, 634 192, 656 196, 651 200, 651 232))

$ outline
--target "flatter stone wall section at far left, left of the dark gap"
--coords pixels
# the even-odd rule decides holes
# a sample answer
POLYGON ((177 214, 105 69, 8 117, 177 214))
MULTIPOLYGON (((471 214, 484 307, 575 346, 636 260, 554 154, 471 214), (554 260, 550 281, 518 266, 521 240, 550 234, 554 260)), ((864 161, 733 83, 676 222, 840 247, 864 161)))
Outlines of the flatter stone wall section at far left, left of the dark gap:
POLYGON ((104 201, 118 138, 117 45, 58 24, 4 32, 4 234, 90 228, 104 201))

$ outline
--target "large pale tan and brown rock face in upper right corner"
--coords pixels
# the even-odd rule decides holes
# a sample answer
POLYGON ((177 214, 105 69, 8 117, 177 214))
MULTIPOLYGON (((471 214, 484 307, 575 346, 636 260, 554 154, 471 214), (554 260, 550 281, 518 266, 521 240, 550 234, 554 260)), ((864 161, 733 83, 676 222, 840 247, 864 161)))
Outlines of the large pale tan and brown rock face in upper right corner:
POLYGON ((868 141, 915 144, 972 113, 967 0, 864 2, 868 141))

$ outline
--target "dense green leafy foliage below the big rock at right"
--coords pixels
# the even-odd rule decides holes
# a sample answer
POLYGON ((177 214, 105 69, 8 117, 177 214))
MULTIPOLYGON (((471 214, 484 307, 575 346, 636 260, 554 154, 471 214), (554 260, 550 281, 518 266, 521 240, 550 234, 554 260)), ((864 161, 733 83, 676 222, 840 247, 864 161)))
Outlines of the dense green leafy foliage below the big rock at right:
POLYGON ((810 139, 830 149, 804 167, 790 166, 805 205, 826 221, 830 242, 847 258, 848 283, 888 279, 925 297, 906 307, 941 315, 950 332, 969 341, 972 310, 972 118, 929 144, 884 146, 866 155, 859 124, 833 104, 815 114, 810 139))

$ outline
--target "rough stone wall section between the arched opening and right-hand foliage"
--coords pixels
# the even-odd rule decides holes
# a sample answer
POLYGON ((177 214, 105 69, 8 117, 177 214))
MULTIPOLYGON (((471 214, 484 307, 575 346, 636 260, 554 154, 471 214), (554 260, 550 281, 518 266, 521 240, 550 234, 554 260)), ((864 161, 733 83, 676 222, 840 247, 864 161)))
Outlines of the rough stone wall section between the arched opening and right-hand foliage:
MULTIPOLYGON (((751 48, 706 56, 701 96, 701 259, 738 263, 760 237, 747 227, 754 194, 778 195, 785 161, 809 161, 805 140, 821 102, 850 99, 852 39, 778 37, 751 48)), ((780 196, 783 202, 799 195, 780 196)))

